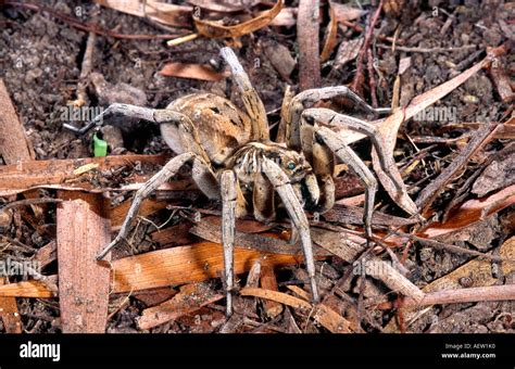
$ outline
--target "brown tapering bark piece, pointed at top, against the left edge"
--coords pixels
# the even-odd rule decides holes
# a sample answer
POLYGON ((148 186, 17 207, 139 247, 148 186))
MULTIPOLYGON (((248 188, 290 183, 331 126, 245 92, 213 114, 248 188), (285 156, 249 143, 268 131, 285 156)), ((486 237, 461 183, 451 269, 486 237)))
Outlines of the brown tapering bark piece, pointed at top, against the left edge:
POLYGON ((0 156, 5 164, 35 158, 34 149, 20 122, 3 79, 0 78, 0 156))

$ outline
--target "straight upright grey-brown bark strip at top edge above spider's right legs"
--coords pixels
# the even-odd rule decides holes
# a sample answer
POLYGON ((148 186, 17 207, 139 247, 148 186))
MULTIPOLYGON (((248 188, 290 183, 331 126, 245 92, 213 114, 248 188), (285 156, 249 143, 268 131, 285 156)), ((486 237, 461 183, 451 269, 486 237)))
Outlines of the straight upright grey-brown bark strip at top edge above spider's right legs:
POLYGON ((321 87, 319 5, 318 0, 301 0, 299 2, 297 39, 299 42, 300 91, 321 87))

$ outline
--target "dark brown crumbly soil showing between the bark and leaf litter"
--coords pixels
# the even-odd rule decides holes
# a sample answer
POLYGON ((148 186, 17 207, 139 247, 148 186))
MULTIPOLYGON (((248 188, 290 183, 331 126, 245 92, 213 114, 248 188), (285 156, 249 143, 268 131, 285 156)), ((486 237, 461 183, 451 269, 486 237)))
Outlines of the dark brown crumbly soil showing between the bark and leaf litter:
MULTIPOLYGON (((102 28, 115 29, 118 34, 155 35, 163 33, 163 29, 148 20, 97 4, 83 3, 81 1, 48 1, 45 3, 55 12, 75 16, 81 22, 96 22, 102 28), (81 10, 80 17, 75 15, 77 8, 81 10)), ((348 5, 356 8, 355 2, 350 2, 348 5)), ((297 8, 298 2, 287 1, 286 7, 297 8)), ((367 15, 375 9, 375 7, 365 4, 364 15, 353 22, 366 27, 369 22, 367 15)), ((321 24, 321 43, 323 44, 328 24, 327 2, 323 1, 322 10, 324 21, 321 24)), ((402 5, 401 13, 399 16, 381 14, 376 27, 376 35, 395 37, 400 41, 401 49, 392 51, 391 42, 377 38, 374 41, 372 49, 378 72, 376 75, 378 106, 391 105, 393 86, 401 60, 411 56, 412 65, 411 75, 402 87, 402 105, 479 62, 485 58, 486 50, 500 47, 508 41, 508 33, 513 37, 513 7, 503 1, 489 3, 480 1, 407 1, 407 4, 402 5), (436 13, 435 9, 437 9, 436 13), (447 21, 451 16, 452 21, 450 25, 447 25, 447 21), (400 31, 395 31, 398 29, 400 31), (467 47, 470 44, 475 47, 467 47), (402 48, 406 48, 406 50, 402 51, 402 48), (436 50, 436 48, 440 48, 442 51, 410 51, 410 49, 436 50)), ((72 27, 47 12, 10 5, 0 8, 0 24, 2 24, 0 77, 7 85, 20 119, 34 145, 36 158, 60 160, 92 156, 91 133, 78 137, 63 129, 63 123, 66 122, 63 122, 62 118, 63 109, 66 109, 71 101, 77 99, 76 90, 80 80, 79 75, 88 33, 72 27)), ((322 86, 352 84, 356 73, 356 61, 340 63, 339 47, 344 40, 359 39, 360 37, 363 37, 362 31, 340 25, 338 46, 328 61, 322 64, 322 86)), ((299 84, 299 44, 296 26, 265 27, 252 35, 243 36, 239 42, 241 48, 236 49, 236 53, 264 102, 271 125, 275 125, 280 119, 280 106, 286 87, 291 85, 297 90, 299 84), (265 52, 265 50, 269 50, 267 46, 277 43, 288 50, 291 60, 296 63, 296 68, 287 78, 277 71, 271 54, 265 52), (258 66, 255 65, 256 59, 260 61, 258 66)), ((89 106, 103 107, 113 102, 165 107, 169 102, 186 93, 211 91, 226 96, 241 106, 230 79, 203 81, 165 77, 160 74, 164 65, 171 62, 216 64, 219 61, 218 49, 223 44, 222 40, 200 37, 171 48, 165 44, 164 40, 159 39, 127 40, 97 36, 92 54, 92 72, 97 74, 97 79, 90 78, 88 80, 86 96, 89 101, 87 103, 89 106), (115 85, 117 86, 115 87, 115 85)), ((275 49, 277 50, 277 48, 275 49)), ((499 61, 505 73, 513 76, 515 72, 513 54, 508 53, 500 58, 499 61)), ((370 103, 368 82, 364 84, 362 93, 365 100, 370 103)), ((413 169, 403 178, 410 195, 416 199, 419 192, 435 180, 444 167, 456 160, 467 142, 466 139, 460 140, 460 138, 475 135, 475 129, 460 125, 460 123, 504 123, 506 116, 513 112, 512 103, 513 100, 512 102, 502 101, 491 75, 488 71, 481 69, 432 105, 441 111, 451 112, 451 117, 448 119, 415 118, 403 124, 394 150, 395 162, 405 167, 414 163, 413 158, 416 155, 423 153, 419 156, 419 163, 413 166, 413 169)), ((352 111, 349 113, 352 114, 352 111)), ((103 138, 110 144, 110 154, 171 152, 160 137, 159 129, 151 124, 118 120, 114 126, 115 128, 104 128, 102 131, 103 138), (121 126, 123 126, 122 129, 120 129, 121 126)), ((274 135, 275 129, 272 130, 274 135)), ((459 195, 462 195, 461 201, 454 205, 466 200, 486 198, 488 194, 513 186, 515 161, 511 143, 513 142, 510 138, 497 137, 490 140, 482 151, 473 156, 461 175, 454 177, 439 192, 431 206, 434 209, 432 220, 441 220, 448 213, 448 206, 459 195), (503 154, 499 154, 501 152, 503 154), (488 157, 498 166, 486 178, 481 174, 487 167, 485 163, 488 157), (475 184, 479 180, 477 178, 486 182, 475 184), (492 184, 495 178, 498 183, 492 184), (488 186, 492 186, 492 190, 481 192, 480 189, 488 188, 488 186)), ((360 142, 353 148, 366 163, 369 163, 369 143, 360 142)), ((340 174, 340 177, 348 178, 351 183, 356 183, 355 177, 347 170, 340 174)), ((356 191, 351 186, 347 189, 347 193, 346 191, 340 193, 339 200, 356 194, 353 192, 362 193, 363 188, 357 186, 356 191)), ((41 194, 55 195, 51 190, 42 190, 41 194)), ((124 200, 129 200, 130 195, 130 193, 113 195, 113 202, 118 204, 124 200)), ((4 203, 13 201, 13 199, 0 199, 0 201, 2 200, 4 203)), ((174 204, 184 206, 193 204, 197 207, 219 209, 218 204, 209 202, 204 198, 200 198, 194 203, 185 200, 174 204)), ((391 216, 409 217, 393 203, 382 188, 377 195, 376 205, 376 209, 391 216)), ((30 258, 38 249, 51 242, 55 238, 54 209, 54 205, 48 206, 48 214, 41 221, 45 227, 34 229, 29 222, 22 219, 2 229, 4 234, 33 249, 33 253, 27 250, 9 250, 9 247, 2 250, 2 245, 0 255, 30 258)), ((169 217, 171 212, 163 209, 153 214, 150 219, 155 224, 163 224, 169 217)), ((492 252, 495 255, 501 245, 513 236, 513 219, 512 204, 503 206, 500 212, 487 216, 483 220, 470 222, 470 226, 461 231, 450 232, 445 237, 435 238, 435 240, 480 253, 492 252)), ((330 222, 330 220, 326 220, 330 222)), ((166 227, 180 225, 187 227, 191 224, 184 216, 175 215, 166 227)), ((352 225, 339 226, 360 229, 359 226, 356 228, 352 225)), ((281 230, 282 228, 277 226, 274 229, 281 230)), ((118 251, 117 256, 181 244, 179 241, 175 244, 174 242, 156 242, 149 237, 153 230, 151 224, 141 224, 135 236, 137 250, 118 251)), ((200 238, 190 234, 186 242, 191 243, 191 241, 200 240, 200 238)), ((452 253, 449 250, 436 249, 416 241, 407 250, 399 245, 392 247, 392 251, 398 257, 401 257, 404 252, 406 253, 404 264, 409 270, 407 277, 418 288, 427 287, 432 281, 476 258, 472 254, 452 253)), ((388 258, 384 252, 381 255, 381 257, 388 258)), ((319 271, 317 275, 323 293, 329 293, 351 267, 352 265, 342 262, 337 256, 317 262, 319 271)), ((58 272, 56 262, 48 265, 42 272, 49 276, 58 272)), ((304 275, 303 265, 276 270, 279 291, 287 292, 286 287, 303 280, 304 275)), ((492 284, 513 283, 514 276, 515 271, 513 270, 508 275, 495 275, 495 281, 492 284)), ((244 284, 247 275, 239 276, 240 284, 244 284)), ((11 282, 15 281, 11 280, 11 282)), ((466 284, 464 280, 462 282, 466 284)), ((223 290, 219 280, 211 280, 209 284, 216 291, 223 290)), ((360 278, 351 278, 340 290, 334 293, 328 304, 349 320, 356 318, 356 306, 361 298, 387 296, 390 301, 394 301, 394 295, 388 294, 388 288, 374 279, 367 279, 365 287, 361 289, 360 278), (360 297, 360 294, 363 296, 360 297)), ((112 296, 106 331, 140 332, 137 318, 142 310, 162 302, 160 298, 166 300, 166 292, 163 291, 150 294, 150 297, 145 293, 112 296)), ((246 304, 251 298, 237 297, 235 302, 237 310, 249 307, 246 304)), ((17 304, 24 331, 61 331, 58 298, 17 298, 17 304)), ((241 318, 242 320, 238 322, 233 321, 234 326, 229 327, 224 319, 224 308, 225 303, 222 300, 204 306, 193 314, 147 330, 147 332, 217 332, 221 329, 237 332, 326 331, 325 328, 313 321, 306 323, 310 319, 305 313, 289 307, 275 318, 268 318, 264 313, 263 302, 254 303, 251 306, 252 311, 244 319, 241 318)), ((515 332, 513 314, 514 305, 511 302, 440 304, 432 306, 412 320, 404 321, 403 330, 409 332, 513 333, 515 332)), ((376 332, 391 331, 388 328, 390 327, 389 322, 399 320, 400 317, 395 308, 367 307, 365 313, 361 313, 361 327, 365 332, 376 332)), ((2 330, 3 326, 0 319, 0 331, 2 330)))

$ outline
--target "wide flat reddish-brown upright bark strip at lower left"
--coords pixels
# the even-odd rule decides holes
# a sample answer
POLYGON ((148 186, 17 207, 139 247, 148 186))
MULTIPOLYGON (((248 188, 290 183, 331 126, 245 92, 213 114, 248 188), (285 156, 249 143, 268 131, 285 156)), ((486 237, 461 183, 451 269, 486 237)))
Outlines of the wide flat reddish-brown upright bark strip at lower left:
POLYGON ((101 195, 90 193, 60 192, 59 196, 66 200, 56 215, 62 330, 103 333, 110 269, 96 256, 111 241, 109 205, 101 195))

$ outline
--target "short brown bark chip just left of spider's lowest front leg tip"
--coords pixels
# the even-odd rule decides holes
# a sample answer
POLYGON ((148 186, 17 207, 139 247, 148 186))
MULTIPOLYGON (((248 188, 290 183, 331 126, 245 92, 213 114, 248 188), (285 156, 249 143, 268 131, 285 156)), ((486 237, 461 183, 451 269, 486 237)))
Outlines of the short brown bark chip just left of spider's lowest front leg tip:
POLYGON ((206 283, 186 284, 171 300, 145 309, 141 317, 138 318, 138 327, 151 329, 222 298, 224 295, 216 293, 206 283))

